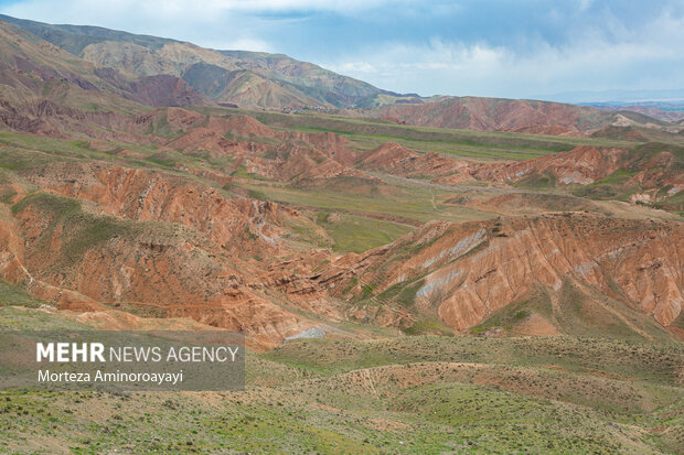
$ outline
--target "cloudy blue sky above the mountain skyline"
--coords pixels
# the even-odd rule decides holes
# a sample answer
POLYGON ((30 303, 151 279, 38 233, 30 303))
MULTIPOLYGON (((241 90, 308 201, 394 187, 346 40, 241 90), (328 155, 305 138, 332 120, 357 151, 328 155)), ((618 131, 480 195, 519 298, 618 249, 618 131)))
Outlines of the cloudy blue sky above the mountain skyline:
POLYGON ((0 0, 0 13, 282 53, 421 96, 684 88, 684 0, 0 0))

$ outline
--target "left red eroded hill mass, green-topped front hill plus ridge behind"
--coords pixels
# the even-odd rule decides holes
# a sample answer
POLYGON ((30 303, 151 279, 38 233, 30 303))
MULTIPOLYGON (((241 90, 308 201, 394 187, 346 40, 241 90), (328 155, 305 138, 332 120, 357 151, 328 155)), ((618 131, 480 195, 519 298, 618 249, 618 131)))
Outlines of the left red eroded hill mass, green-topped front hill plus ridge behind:
MULTIPOLYGON (((296 213, 120 166, 58 163, 28 178, 43 189, 13 185, 12 209, 0 207, 0 274, 34 296, 78 312, 189 317, 245 331, 257 348, 312 326, 260 279, 261 261, 291 253, 279 224, 296 213)), ((340 318, 332 304, 304 307, 340 318)))

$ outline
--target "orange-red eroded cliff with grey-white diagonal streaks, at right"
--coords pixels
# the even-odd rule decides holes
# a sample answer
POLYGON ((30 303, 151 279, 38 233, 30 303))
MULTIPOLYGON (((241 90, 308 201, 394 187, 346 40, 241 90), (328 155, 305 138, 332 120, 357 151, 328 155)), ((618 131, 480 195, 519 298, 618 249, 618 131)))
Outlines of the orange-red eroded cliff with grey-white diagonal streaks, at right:
POLYGON ((571 280, 666 327, 684 303, 682 251, 678 223, 579 213, 430 223, 388 247, 340 259, 318 281, 333 293, 372 286, 380 296, 407 285, 413 304, 463 331, 527 299, 538 285, 557 300, 571 280))

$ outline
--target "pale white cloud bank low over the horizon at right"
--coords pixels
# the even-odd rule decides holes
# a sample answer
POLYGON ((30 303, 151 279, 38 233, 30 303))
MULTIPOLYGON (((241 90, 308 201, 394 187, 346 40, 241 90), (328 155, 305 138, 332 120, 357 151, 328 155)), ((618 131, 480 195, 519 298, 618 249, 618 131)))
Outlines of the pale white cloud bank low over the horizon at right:
POLYGON ((684 87, 684 19, 669 12, 619 40, 585 30, 553 44, 524 46, 432 37, 423 44, 376 43, 323 66, 396 91, 533 97, 568 90, 684 87))

